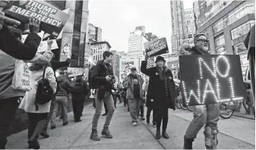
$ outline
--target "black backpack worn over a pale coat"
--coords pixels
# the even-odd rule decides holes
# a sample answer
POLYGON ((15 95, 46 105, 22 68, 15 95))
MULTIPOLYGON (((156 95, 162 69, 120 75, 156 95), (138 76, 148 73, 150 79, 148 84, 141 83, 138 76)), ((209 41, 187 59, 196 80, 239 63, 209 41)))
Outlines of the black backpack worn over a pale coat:
POLYGON ((36 111, 38 111, 38 104, 43 105, 52 100, 53 90, 49 80, 45 79, 46 68, 43 70, 43 79, 38 82, 36 89, 36 111))

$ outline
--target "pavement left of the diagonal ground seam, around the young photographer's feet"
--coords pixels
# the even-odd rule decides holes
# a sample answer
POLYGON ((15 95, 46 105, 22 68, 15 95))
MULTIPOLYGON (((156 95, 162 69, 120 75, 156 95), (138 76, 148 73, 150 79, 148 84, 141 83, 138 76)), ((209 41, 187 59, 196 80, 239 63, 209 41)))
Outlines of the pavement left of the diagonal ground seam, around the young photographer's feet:
MULTIPOLYGON (((95 111, 92 104, 90 104, 84 107, 80 123, 74 123, 73 112, 68 113, 68 126, 63 127, 62 120, 58 120, 56 129, 49 129, 50 137, 48 139, 39 139, 41 148, 163 149, 141 121, 138 122, 137 127, 131 126, 131 117, 127 108, 120 104, 117 107, 109 127, 113 139, 106 139, 101 134, 99 134, 101 139, 99 142, 90 139, 91 124, 95 111)), ((104 108, 102 112, 105 112, 104 108)), ((100 116, 99 133, 103 129, 105 118, 100 116)), ((27 146, 27 130, 24 130, 21 133, 9 136, 6 148, 24 149, 27 146)))

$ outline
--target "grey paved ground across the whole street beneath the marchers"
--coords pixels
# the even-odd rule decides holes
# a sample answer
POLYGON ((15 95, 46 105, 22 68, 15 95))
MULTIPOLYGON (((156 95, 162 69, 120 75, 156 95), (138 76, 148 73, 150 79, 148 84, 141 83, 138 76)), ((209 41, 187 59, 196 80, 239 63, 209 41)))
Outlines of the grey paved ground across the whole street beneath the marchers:
MULTIPOLYGON (((145 108, 145 111, 147 108, 145 108)), ((91 122, 94 109, 92 105, 84 108, 81 123, 74 123, 73 113, 69 113, 69 124, 63 127, 59 120, 55 130, 49 130, 48 139, 40 139, 41 148, 96 148, 96 149, 181 149, 183 136, 189 121, 192 119, 190 111, 169 111, 167 133, 170 139, 156 140, 156 128, 145 121, 139 121, 137 127, 131 126, 131 117, 127 108, 118 105, 112 123, 109 127, 113 139, 100 136, 99 142, 90 140, 91 122)), ((100 117, 99 133, 103 128, 105 117, 100 117)), ((152 119, 151 119, 152 120, 152 119)), ((231 117, 228 120, 220 118, 219 149, 255 149, 254 120, 231 117)), ((27 148, 27 130, 8 137, 7 148, 27 148)), ((203 130, 194 142, 194 148, 204 149, 203 130)))

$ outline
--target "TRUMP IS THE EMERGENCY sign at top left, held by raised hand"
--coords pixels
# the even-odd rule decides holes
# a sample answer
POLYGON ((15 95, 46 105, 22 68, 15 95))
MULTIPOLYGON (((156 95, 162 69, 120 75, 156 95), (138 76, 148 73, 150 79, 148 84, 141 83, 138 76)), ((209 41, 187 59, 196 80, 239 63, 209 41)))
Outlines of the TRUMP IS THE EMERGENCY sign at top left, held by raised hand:
POLYGON ((44 1, 14 1, 7 5, 5 14, 22 22, 35 17, 41 21, 40 29, 57 37, 65 26, 69 15, 44 1))

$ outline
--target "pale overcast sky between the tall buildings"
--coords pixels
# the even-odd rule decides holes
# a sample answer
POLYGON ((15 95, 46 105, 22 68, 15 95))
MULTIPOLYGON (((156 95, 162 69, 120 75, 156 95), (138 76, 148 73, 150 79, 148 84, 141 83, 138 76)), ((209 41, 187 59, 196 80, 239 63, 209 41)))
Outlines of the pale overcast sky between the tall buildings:
MULTIPOLYGON (((184 0, 184 4, 193 8, 193 0, 184 0)), ((89 23, 103 30, 103 40, 111 50, 128 52, 128 38, 137 26, 166 37, 171 47, 169 0, 90 0, 89 23)))

